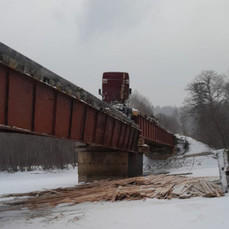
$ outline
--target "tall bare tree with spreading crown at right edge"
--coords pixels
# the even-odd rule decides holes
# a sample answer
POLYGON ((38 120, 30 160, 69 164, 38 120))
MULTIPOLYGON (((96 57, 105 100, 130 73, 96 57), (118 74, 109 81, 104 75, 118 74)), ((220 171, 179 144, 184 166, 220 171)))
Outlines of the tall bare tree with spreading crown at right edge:
POLYGON ((195 134, 215 147, 226 147, 225 77, 215 71, 202 71, 187 87, 186 111, 196 121, 195 134))

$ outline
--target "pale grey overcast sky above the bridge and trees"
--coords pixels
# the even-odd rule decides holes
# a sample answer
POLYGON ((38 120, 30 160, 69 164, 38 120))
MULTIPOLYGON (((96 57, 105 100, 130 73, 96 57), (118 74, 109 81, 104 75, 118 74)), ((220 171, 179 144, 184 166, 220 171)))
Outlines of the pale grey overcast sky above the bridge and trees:
POLYGON ((229 71, 229 0, 0 0, 0 41, 96 96, 103 72, 126 71, 180 106, 202 70, 229 71))

